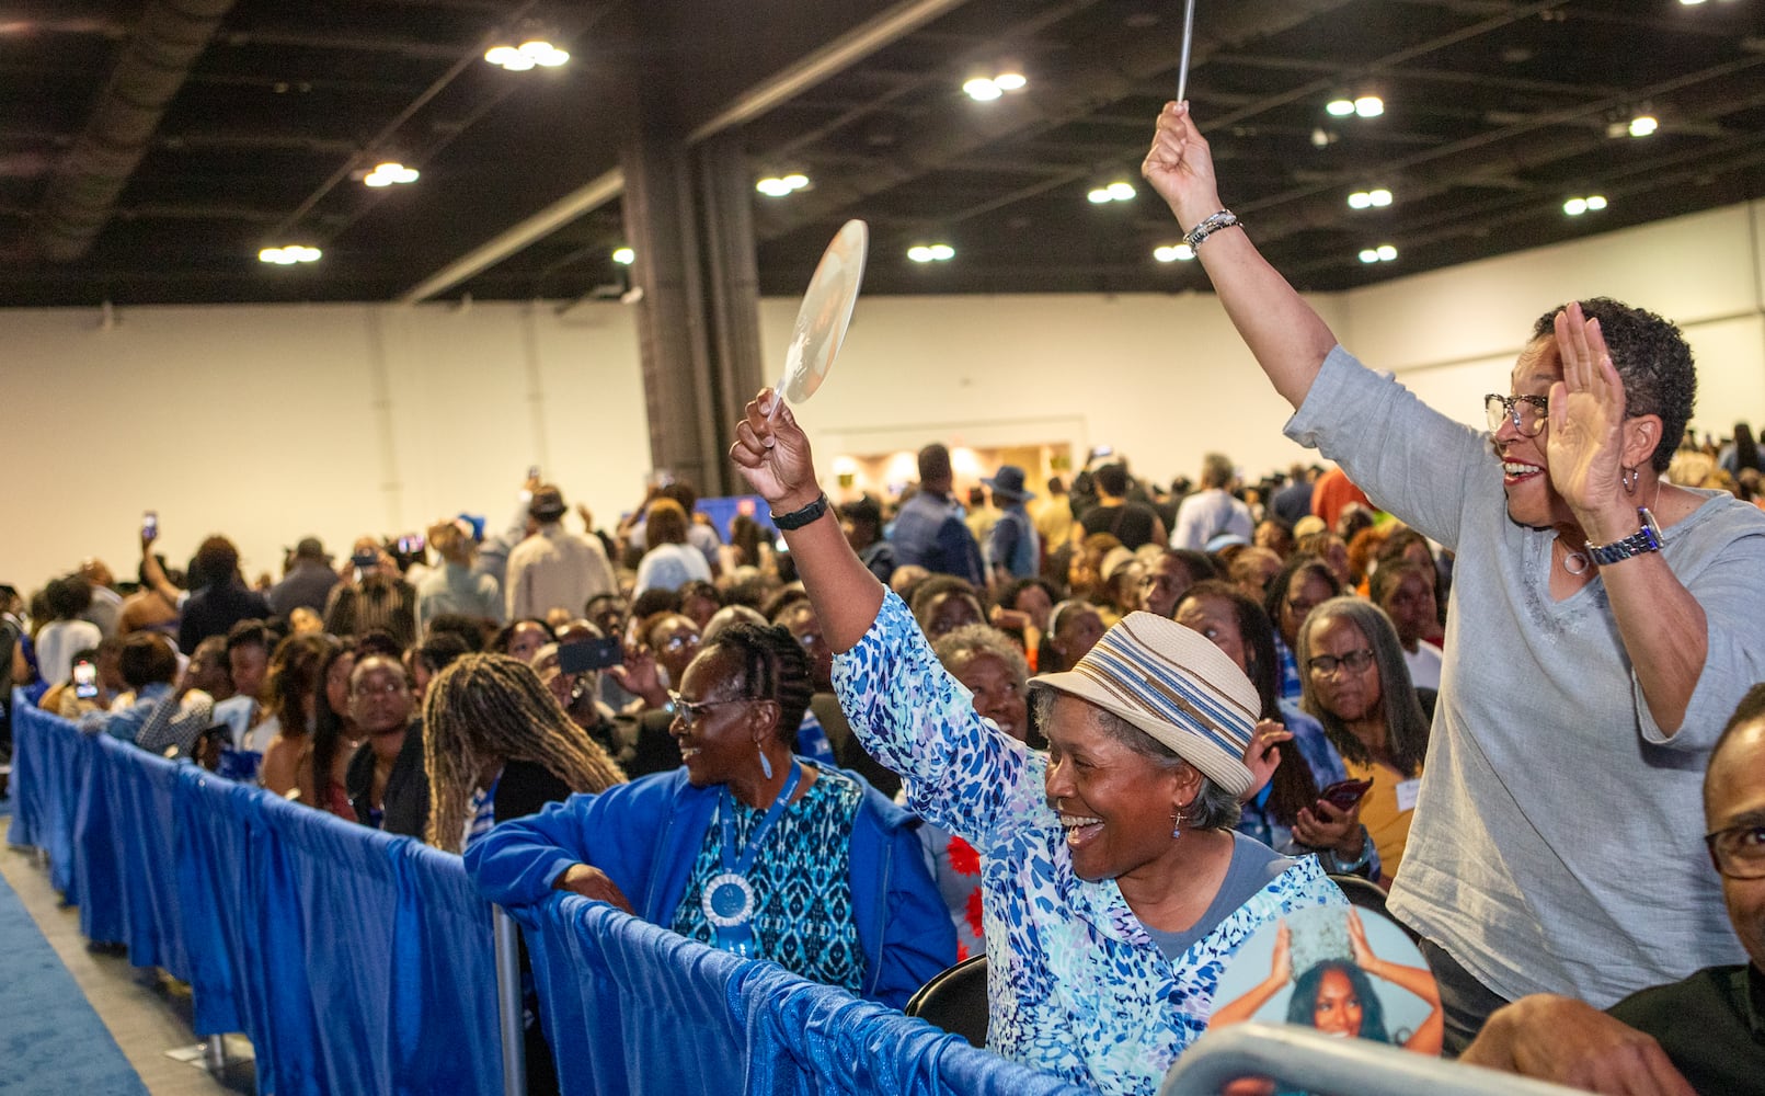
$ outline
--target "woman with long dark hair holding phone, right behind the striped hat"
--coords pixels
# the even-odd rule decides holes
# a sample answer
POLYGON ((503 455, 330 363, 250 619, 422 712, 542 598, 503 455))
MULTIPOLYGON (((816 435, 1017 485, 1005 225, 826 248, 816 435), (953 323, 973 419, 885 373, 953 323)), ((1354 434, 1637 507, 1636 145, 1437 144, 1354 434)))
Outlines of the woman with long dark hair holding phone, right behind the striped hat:
POLYGON ((1207 581, 1177 602, 1175 619, 1225 651, 1262 704, 1244 755, 1255 780, 1239 796, 1236 830, 1287 856, 1317 852, 1326 872, 1378 879, 1378 849, 1361 824, 1361 805, 1338 808, 1318 796, 1348 773, 1324 727, 1281 697, 1274 628, 1262 605, 1230 582, 1207 581))

